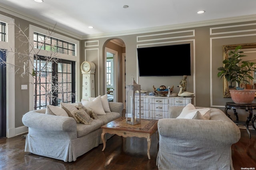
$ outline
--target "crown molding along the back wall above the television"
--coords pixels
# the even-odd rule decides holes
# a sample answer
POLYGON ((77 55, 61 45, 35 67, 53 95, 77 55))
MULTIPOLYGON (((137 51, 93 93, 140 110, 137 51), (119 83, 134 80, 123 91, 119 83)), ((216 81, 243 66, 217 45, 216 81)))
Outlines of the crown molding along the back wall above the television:
POLYGON ((126 31, 110 32, 110 33, 91 34, 91 35, 83 36, 82 39, 117 37, 117 36, 122 36, 122 35, 151 33, 151 32, 158 32, 158 31, 169 31, 169 30, 174 30, 174 29, 203 27, 203 26, 210 26, 210 25, 220 25, 220 24, 255 21, 255 20, 256 20, 256 14, 249 15, 249 16, 222 18, 222 19, 217 19, 217 20, 206 20, 206 21, 198 21, 198 22, 191 22, 191 23, 164 25, 164 26, 159 26, 159 27, 148 27, 148 28, 143 28, 143 29, 133 29, 133 30, 126 30, 126 31))

